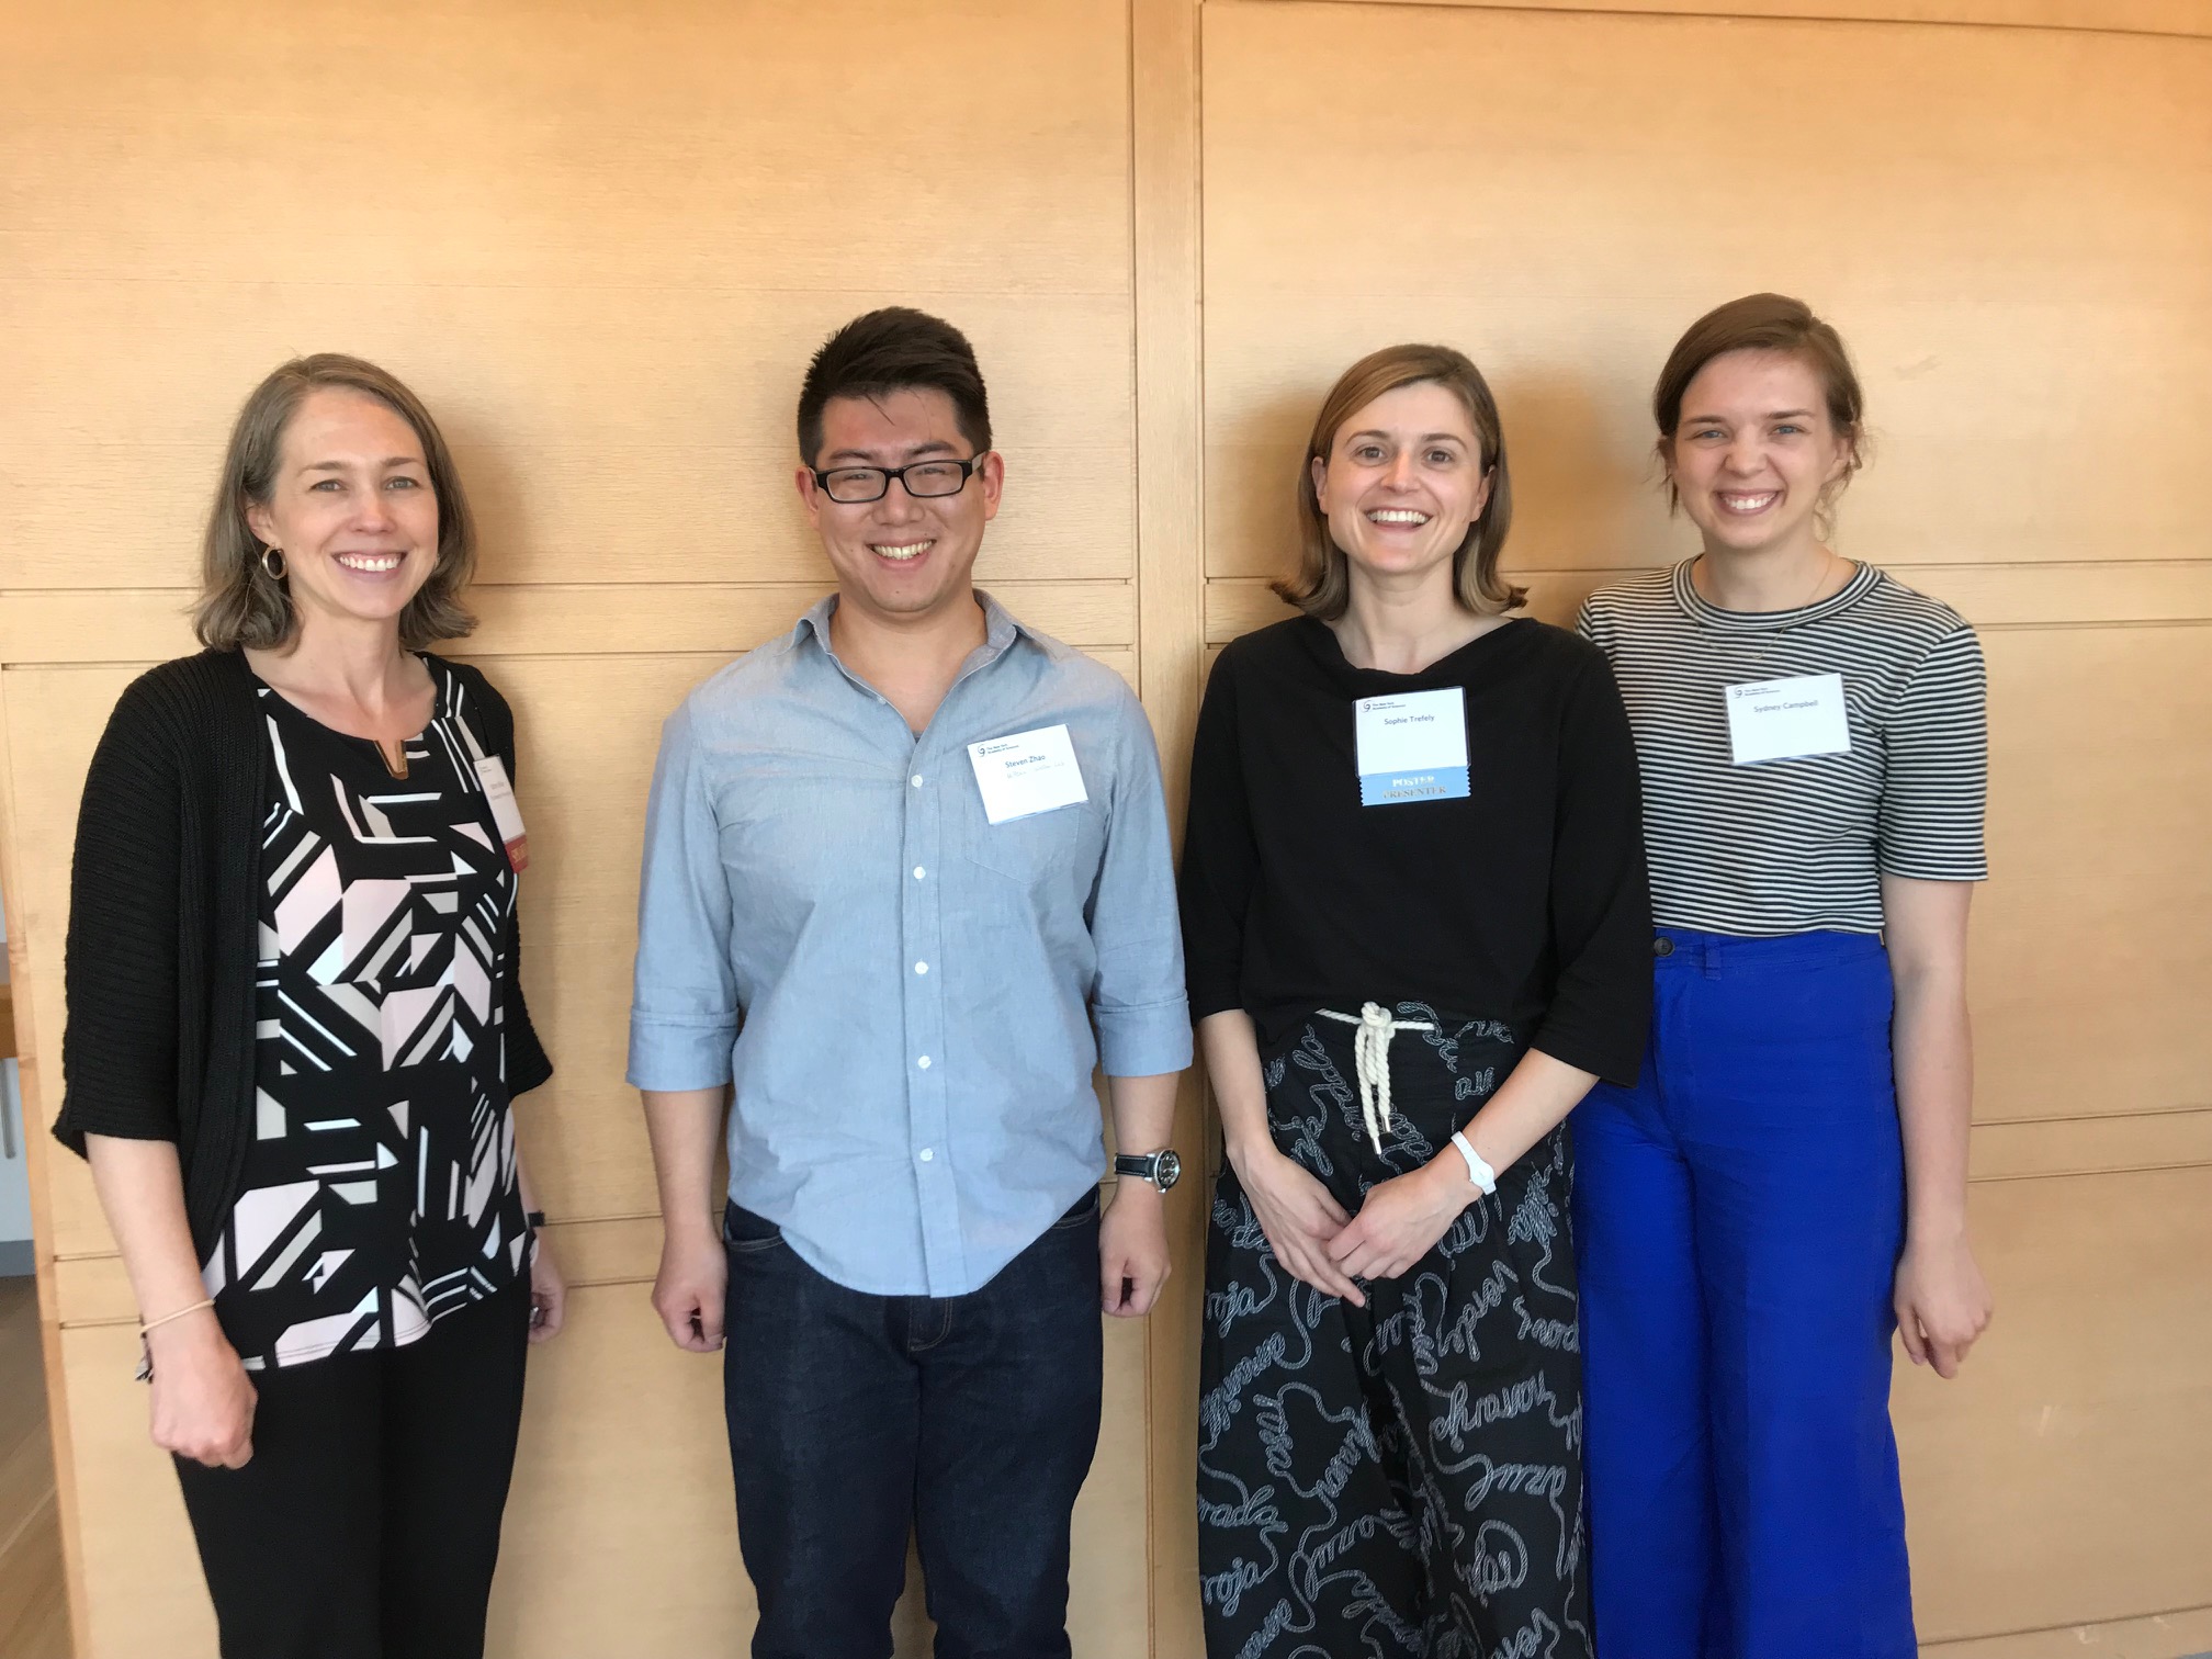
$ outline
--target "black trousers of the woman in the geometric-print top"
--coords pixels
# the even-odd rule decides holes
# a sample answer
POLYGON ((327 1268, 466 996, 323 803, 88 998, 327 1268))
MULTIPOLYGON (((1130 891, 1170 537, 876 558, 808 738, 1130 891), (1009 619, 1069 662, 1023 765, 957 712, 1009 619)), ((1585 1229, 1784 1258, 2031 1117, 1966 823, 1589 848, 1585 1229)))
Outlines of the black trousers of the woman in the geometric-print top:
POLYGON ((480 1659, 529 1314, 518 1281, 407 1347, 257 1371, 252 1462, 177 1460, 223 1659, 480 1659))

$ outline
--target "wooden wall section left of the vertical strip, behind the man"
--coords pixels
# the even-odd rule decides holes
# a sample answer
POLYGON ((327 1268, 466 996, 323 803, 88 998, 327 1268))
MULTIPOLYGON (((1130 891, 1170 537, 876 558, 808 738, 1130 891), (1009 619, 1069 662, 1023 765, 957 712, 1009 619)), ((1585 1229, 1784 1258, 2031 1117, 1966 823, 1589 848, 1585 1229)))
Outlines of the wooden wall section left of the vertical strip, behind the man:
MULTIPOLYGON (((451 650, 520 719, 526 978, 560 1066, 520 1110, 582 1287, 533 1363, 493 1650, 734 1652, 750 1593, 719 1367, 646 1307, 659 1230, 622 1084, 655 739, 827 586, 792 400, 832 327, 894 301, 960 323, 991 380, 1009 491, 978 575, 1144 679, 1128 7, 945 0, 887 33, 860 0, 104 0, 18 9, 7 35, 0 449, 40 480, 0 495, 11 942, 46 1055, 31 1117, 58 1099, 84 765, 128 677, 190 648, 230 416, 294 352, 378 358, 440 414, 482 524, 482 628, 451 650)), ((1177 591, 1194 617, 1194 566, 1177 591)), ((126 1380, 128 1283, 82 1166, 46 1155, 40 1183, 82 1652, 210 1652, 126 1380)), ((1148 1363, 1141 1327, 1108 1334, 1077 1511, 1086 1655, 1148 1646, 1148 1363)), ((909 1597, 900 1652, 927 1641, 909 1597)))

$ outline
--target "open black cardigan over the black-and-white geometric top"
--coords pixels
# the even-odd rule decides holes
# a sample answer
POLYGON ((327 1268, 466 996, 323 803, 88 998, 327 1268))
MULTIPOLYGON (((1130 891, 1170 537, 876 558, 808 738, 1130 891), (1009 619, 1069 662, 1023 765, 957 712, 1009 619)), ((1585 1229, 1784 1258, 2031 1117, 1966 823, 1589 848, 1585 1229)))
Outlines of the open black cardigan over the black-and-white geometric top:
MULTIPOLYGON (((515 772, 515 721, 491 681, 471 728, 515 772)), ((77 814, 69 876, 62 1115, 53 1135, 177 1141, 192 1243, 221 1234, 254 1121, 254 958, 265 743, 246 657, 204 650, 139 675, 108 717, 77 814)), ((507 1088, 553 1075, 522 1002, 509 920, 507 1088)))

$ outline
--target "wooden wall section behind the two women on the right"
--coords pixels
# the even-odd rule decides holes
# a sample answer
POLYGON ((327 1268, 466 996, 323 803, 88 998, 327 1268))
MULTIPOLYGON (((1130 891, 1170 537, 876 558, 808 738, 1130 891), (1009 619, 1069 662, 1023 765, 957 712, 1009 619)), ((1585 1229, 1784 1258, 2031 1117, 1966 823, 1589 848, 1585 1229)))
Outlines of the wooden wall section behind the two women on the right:
POLYGON ((1955 604, 1991 668, 1971 1170, 2000 1314, 1962 1383, 1902 1367, 1896 1402, 1922 1635, 2026 1659, 2039 1626, 2212 1604, 2212 40, 1834 20, 1869 13, 2095 22, 1208 7, 1206 641, 1287 615, 1305 434, 1363 352, 1484 365, 1506 564, 1568 622, 1697 546, 1650 458, 1681 327, 1761 288, 1843 327, 1876 458, 1838 546, 1955 604))

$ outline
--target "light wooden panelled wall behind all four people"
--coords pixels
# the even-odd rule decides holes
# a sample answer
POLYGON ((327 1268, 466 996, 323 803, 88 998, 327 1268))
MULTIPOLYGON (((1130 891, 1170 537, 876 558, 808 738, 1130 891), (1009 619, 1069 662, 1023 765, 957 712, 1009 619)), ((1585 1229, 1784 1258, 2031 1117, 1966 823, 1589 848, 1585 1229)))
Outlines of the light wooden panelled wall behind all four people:
MULTIPOLYGON (((1179 799, 1210 646, 1283 615, 1265 577, 1345 363, 1478 356, 1509 564, 1568 619, 1686 549, 1644 400, 1750 288, 1858 349, 1878 458, 1840 546, 1991 661, 1973 1210, 2002 1312, 1962 1383, 1898 1385, 1922 1635, 2212 1648, 2174 1615, 2212 1608, 2212 42, 2150 38, 2201 33, 2194 0, 938 0, 896 53, 860 0, 0 7, 0 451, 38 480, 0 491, 0 885, 33 1124, 84 763, 186 648, 254 376, 385 361, 482 509, 456 650, 520 714, 560 1062, 524 1135, 582 1285, 533 1363, 493 1652, 737 1652, 750 1617, 714 1367, 644 1303, 622 1042, 659 719, 827 582, 790 491, 814 343, 885 301, 969 330, 1009 456, 982 577, 1139 686, 1179 799)), ((1108 1332, 1084 1659, 1201 1650, 1194 1088, 1177 1139, 1179 1272, 1108 1332)), ((128 1285, 82 1166, 31 1150, 80 1655, 199 1659, 128 1285)), ((909 1597, 900 1655, 927 1635, 909 1597)))

